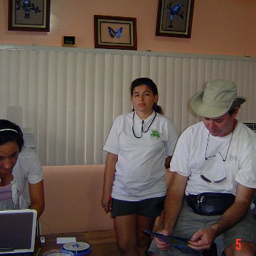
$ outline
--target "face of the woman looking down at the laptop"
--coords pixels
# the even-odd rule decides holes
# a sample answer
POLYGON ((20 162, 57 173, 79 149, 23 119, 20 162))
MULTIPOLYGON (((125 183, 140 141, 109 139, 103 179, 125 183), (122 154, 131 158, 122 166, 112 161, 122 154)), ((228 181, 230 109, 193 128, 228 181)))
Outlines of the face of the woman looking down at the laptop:
POLYGON ((0 145, 0 178, 10 174, 18 159, 19 149, 16 142, 0 145))

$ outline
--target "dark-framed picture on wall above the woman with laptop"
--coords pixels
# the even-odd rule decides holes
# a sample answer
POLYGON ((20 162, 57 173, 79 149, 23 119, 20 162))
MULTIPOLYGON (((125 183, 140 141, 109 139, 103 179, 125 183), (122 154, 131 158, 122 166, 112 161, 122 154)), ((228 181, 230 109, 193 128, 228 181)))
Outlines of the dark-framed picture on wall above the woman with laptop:
POLYGON ((50 0, 9 0, 9 31, 50 31, 50 0))

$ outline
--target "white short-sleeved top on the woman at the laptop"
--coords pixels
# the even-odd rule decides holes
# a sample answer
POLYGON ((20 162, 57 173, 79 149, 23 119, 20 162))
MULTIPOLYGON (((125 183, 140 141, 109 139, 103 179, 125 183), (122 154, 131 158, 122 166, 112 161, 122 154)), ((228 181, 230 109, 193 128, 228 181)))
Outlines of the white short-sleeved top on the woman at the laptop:
POLYGON ((21 209, 30 206, 28 183, 38 183, 43 180, 43 170, 36 152, 25 146, 18 154, 18 160, 13 169, 14 180, 11 181, 12 199, 14 205, 19 203, 21 209))

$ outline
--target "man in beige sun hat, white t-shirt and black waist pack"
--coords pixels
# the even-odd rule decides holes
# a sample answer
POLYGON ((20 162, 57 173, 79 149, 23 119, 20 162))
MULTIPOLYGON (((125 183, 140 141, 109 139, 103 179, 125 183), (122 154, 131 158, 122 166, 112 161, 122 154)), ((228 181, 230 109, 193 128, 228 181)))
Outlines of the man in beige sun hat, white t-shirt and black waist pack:
MULTIPOLYGON (((256 255, 256 223, 249 211, 256 188, 256 134, 236 119, 243 102, 235 83, 220 79, 208 82, 191 102, 203 121, 178 139, 160 231, 188 239, 187 255, 202 255, 213 242, 218 256, 256 255)), ((149 255, 186 253, 155 238, 149 255)))

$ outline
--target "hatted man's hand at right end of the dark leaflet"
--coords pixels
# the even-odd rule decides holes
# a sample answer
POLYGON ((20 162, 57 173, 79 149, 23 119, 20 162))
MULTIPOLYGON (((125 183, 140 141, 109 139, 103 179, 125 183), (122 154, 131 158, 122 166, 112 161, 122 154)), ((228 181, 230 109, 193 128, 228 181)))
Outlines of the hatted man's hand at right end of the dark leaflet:
POLYGON ((213 228, 204 228, 192 235, 191 240, 188 241, 188 246, 194 250, 208 250, 214 239, 215 231, 213 228))

